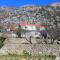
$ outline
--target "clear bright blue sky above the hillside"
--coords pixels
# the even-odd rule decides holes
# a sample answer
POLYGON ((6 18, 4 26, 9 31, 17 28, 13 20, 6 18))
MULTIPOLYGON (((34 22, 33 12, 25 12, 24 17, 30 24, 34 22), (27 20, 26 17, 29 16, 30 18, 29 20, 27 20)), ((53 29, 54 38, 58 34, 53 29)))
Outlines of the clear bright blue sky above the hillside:
POLYGON ((0 6, 23 6, 23 5, 48 5, 60 2, 60 0, 0 0, 0 6))

